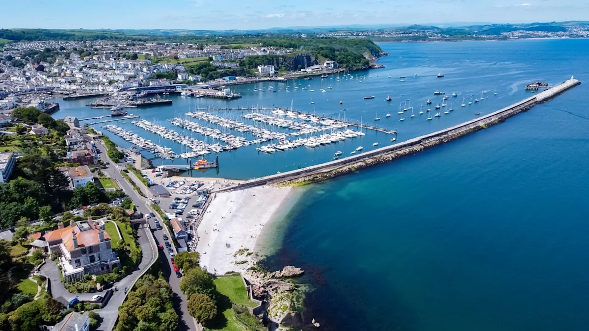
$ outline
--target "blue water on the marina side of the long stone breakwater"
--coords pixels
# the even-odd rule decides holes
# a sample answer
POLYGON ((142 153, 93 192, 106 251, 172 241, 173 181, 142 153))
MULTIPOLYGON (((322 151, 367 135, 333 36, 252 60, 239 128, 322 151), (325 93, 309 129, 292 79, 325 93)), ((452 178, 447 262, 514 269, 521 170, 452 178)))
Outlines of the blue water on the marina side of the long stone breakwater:
MULTIPOLYGON (((243 98, 239 100, 193 99, 170 95, 165 97, 171 98, 173 105, 135 108, 130 109, 130 112, 141 115, 145 120, 157 122, 173 130, 181 131, 180 128, 174 127, 166 120, 172 117, 183 117, 185 112, 194 110, 195 107, 260 105, 264 107, 281 106, 290 108, 292 104, 295 110, 333 118, 346 118, 353 123, 368 123, 378 125, 378 127, 398 130, 399 133, 396 138, 398 142, 401 142, 471 120, 476 117, 475 112, 485 114, 523 100, 530 95, 530 92, 524 90, 525 84, 528 82, 545 80, 551 84, 557 84, 570 78, 571 74, 581 74, 581 67, 585 66, 582 61, 578 64, 578 68, 567 67, 566 65, 566 61, 575 61, 571 54, 565 53, 565 50, 573 47, 573 45, 578 48, 585 47, 586 44, 583 41, 576 40, 464 42, 461 44, 383 44, 386 51, 391 53, 391 56, 383 57, 379 61, 379 63, 385 65, 385 68, 352 72, 356 78, 355 80, 338 82, 334 76, 330 76, 324 80, 316 77, 311 81, 297 80, 287 83, 237 85, 231 87, 231 89, 243 95, 243 98), (554 45, 554 48, 562 49, 559 58, 563 62, 555 62, 555 66, 551 64, 548 68, 545 68, 547 61, 550 62, 550 54, 545 52, 543 47, 548 44, 554 45), (438 72, 443 72, 445 77, 436 78, 438 72), (406 81, 401 82, 399 80, 400 76, 406 76, 406 81), (363 78, 361 82, 358 80, 359 77, 363 78), (299 90, 294 90, 293 84, 297 84, 297 86, 300 84, 299 90), (276 92, 267 90, 270 85, 273 86, 273 90, 276 92), (286 85, 290 86, 290 92, 286 92, 286 85), (303 90, 303 87, 307 87, 307 90, 303 90), (321 92, 320 88, 325 88, 326 92, 321 92), (261 92, 261 90, 266 91, 261 92), (310 92, 310 90, 314 90, 314 92, 310 92), (429 98, 434 102, 429 106, 432 108, 432 112, 435 112, 434 106, 441 103, 441 97, 434 95, 436 90, 444 91, 447 94, 456 92, 462 95, 448 101, 449 107, 451 101, 454 100, 453 112, 442 117, 436 117, 432 121, 426 121, 426 100, 429 98), (463 97, 465 102, 468 102, 469 98, 474 101, 475 98, 481 97, 482 91, 488 91, 488 94, 484 94, 484 101, 473 103, 468 107, 459 107, 463 97), (493 95, 495 91, 497 91, 497 95, 493 95), (374 95, 375 98, 371 100, 363 99, 363 97, 370 95, 374 95), (391 102, 385 101, 385 98, 389 95, 393 98, 391 102), (340 101, 343 104, 340 105, 340 101), (311 102, 314 102, 314 104, 311 104, 311 102), (415 117, 409 117, 411 111, 408 111, 405 114, 405 121, 399 121, 400 115, 397 112, 400 105, 403 108, 413 107, 415 117), (418 114, 421 105, 423 105, 425 112, 423 115, 418 114), (387 113, 391 114, 391 117, 386 118, 387 113), (375 117, 379 117, 381 120, 374 121, 375 117)), ((58 100, 61 110, 55 112, 53 116, 63 118, 65 115, 74 115, 78 118, 87 118, 108 114, 109 110, 107 109, 86 107, 85 105, 90 101, 58 100)), ((222 117, 256 124, 252 120, 240 117, 241 114, 245 114, 247 111, 211 112, 222 117)), ((194 120, 193 118, 188 119, 194 120)), ((177 153, 186 151, 181 149, 180 144, 136 127, 131 124, 131 120, 126 120, 127 123, 123 123, 123 121, 125 120, 114 122, 114 124, 150 139, 154 143, 171 147, 177 153)), ((209 127, 216 127, 198 120, 194 121, 209 127)), ((263 124, 257 123, 256 125, 263 124)), ((94 126, 98 128, 98 125, 94 126)), ((100 128, 98 129, 100 130, 100 128)), ((276 130, 276 127, 272 129, 276 130)), ((237 131, 224 128, 221 128, 221 130, 234 135, 241 135, 237 131)), ((277 131, 283 130, 279 129, 277 131)), ((108 131, 104 131, 104 133, 110 135, 117 144, 130 147, 130 143, 108 133, 108 131)), ((257 146, 254 145, 242 147, 236 151, 219 154, 220 168, 218 173, 214 170, 193 171, 192 176, 247 179, 330 161, 336 151, 342 151, 342 157, 344 157, 350 155, 350 152, 360 145, 364 147, 364 151, 368 151, 370 148, 375 148, 372 146, 373 143, 379 143, 379 147, 392 144, 390 141, 392 135, 376 133, 376 131, 372 130, 365 131, 365 133, 364 137, 346 139, 335 144, 317 148, 295 148, 294 150, 270 155, 258 153, 255 150, 257 146)), ((190 131, 186 131, 184 134, 207 141, 207 143, 217 142, 190 131)), ((248 134, 244 134, 244 137, 249 140, 253 139, 248 134)), ((146 153, 146 156, 150 157, 151 155, 146 153)), ((209 158, 212 159, 213 156, 210 155, 209 158)), ((186 161, 176 159, 173 162, 185 163, 186 161)), ((171 161, 167 160, 154 160, 156 165, 170 163, 171 161)))

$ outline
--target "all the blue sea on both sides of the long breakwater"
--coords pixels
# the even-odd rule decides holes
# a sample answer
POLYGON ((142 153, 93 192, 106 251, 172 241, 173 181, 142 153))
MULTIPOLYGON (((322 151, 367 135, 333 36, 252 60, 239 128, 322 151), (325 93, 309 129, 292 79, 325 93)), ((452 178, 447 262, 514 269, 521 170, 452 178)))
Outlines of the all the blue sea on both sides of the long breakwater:
MULTIPOLYGON (((181 130, 166 120, 195 107, 292 107, 397 130, 398 143, 523 100, 530 96, 530 82, 554 85, 574 75, 585 84, 505 123, 297 188, 258 246, 269 269, 291 264, 306 270, 297 280, 307 289, 303 316, 307 323, 317 320, 322 330, 589 329, 589 40, 379 45, 390 54, 378 61, 385 68, 350 72, 353 80, 340 74, 340 80, 332 75, 237 85, 230 88, 243 97, 233 101, 166 95, 173 105, 130 112, 181 130), (454 111, 427 121, 426 108, 436 112, 441 104, 436 90, 458 94, 446 105, 454 111), (484 100, 474 102, 481 95, 484 100), (460 107, 462 102, 467 105, 460 107), (411 110, 398 114, 408 107, 415 117, 411 110)), ((91 100, 57 101, 55 118, 108 113, 86 107, 91 100)), ((247 122, 241 115, 250 111, 209 112, 247 122)), ((131 120, 113 124, 183 152, 131 120)), ((101 130, 100 125, 94 127, 101 130)), ((247 179, 323 163, 336 151, 346 156, 360 145, 366 151, 373 143, 393 144, 390 134, 364 132, 336 144, 273 154, 243 147, 219 153, 218 170, 187 175, 247 179)))

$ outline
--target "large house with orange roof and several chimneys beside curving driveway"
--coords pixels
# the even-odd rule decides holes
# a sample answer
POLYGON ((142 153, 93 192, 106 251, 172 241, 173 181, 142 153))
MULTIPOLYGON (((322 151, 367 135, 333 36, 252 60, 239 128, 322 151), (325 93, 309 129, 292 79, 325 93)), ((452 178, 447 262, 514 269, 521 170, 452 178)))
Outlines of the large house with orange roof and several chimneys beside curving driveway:
POLYGON ((45 234, 49 254, 59 252, 59 265, 67 282, 80 280, 85 274, 104 274, 121 267, 112 250, 111 238, 104 231, 104 222, 70 221, 70 226, 58 223, 58 229, 45 234))

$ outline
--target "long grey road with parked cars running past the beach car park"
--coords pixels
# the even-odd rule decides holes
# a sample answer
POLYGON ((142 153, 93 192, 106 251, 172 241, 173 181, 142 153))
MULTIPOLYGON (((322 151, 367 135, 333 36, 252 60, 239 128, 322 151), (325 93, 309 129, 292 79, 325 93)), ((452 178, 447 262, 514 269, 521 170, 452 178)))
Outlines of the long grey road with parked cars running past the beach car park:
MULTIPOLYGON (((111 178, 118 181, 118 183, 120 184, 121 188, 123 188, 125 193, 127 193, 127 195, 131 199, 133 199, 133 204, 135 205, 135 207, 137 207, 137 209, 139 211, 141 211, 141 213, 149 214, 152 210, 150 207, 148 207, 149 206, 148 201, 145 200, 143 197, 139 196, 137 194, 137 192, 135 190, 133 190, 133 187, 131 187, 131 184, 129 184, 127 182, 127 180, 125 180, 125 178, 123 178, 123 176, 121 176, 121 173, 117 169, 115 164, 112 163, 112 161, 110 161, 108 159, 106 147, 104 145, 102 145, 102 142, 96 144, 96 147, 98 148, 98 150, 100 150, 101 157, 103 158, 103 160, 108 160, 108 162, 110 163, 107 165, 107 167, 108 167, 107 171, 108 171, 108 174, 110 174, 111 178)), ((135 178, 133 173, 129 173, 129 177, 135 178)), ((143 183, 138 183, 138 185, 143 185, 143 183)), ((156 217, 158 219, 160 218, 160 216, 157 214, 156 214, 156 217)), ((163 245, 164 244, 164 233, 166 233, 165 231, 167 230, 166 227, 164 226, 162 230, 155 230, 156 229, 155 228, 155 221, 153 218, 149 219, 148 223, 149 223, 151 232, 153 233, 153 235, 155 237, 155 241, 158 244, 163 245)), ((169 233, 167 235, 168 235, 168 237, 170 237, 169 233)), ((141 249, 143 249, 143 246, 141 246, 141 249)), ((180 330, 194 330, 194 331, 198 330, 197 324, 194 321, 193 317, 190 316, 190 314, 188 314, 186 296, 184 296, 184 293, 182 293, 182 291, 180 290, 180 278, 176 277, 176 273, 173 272, 172 263, 170 262, 170 256, 168 256, 167 253, 164 253, 163 250, 159 250, 158 254, 160 257, 161 269, 164 273, 164 277, 166 277, 167 282, 170 284, 170 286, 174 292, 174 299, 173 299, 174 302, 173 303, 174 303, 174 308, 176 308, 176 312, 178 313, 178 316, 180 316, 180 330)), ((145 259, 145 254, 144 254, 144 259, 145 259)), ((143 262, 143 260, 142 260, 142 262, 143 262)), ((111 302, 112 302, 112 299, 111 299, 111 302)), ((110 306, 111 302, 109 302, 107 306, 110 306)), ((123 302, 121 301, 121 303, 123 303, 123 302)), ((117 307, 121 303, 118 303, 117 307)), ((102 327, 101 327, 101 329, 102 329, 102 327)), ((110 330, 110 329, 108 329, 108 330, 110 330)))

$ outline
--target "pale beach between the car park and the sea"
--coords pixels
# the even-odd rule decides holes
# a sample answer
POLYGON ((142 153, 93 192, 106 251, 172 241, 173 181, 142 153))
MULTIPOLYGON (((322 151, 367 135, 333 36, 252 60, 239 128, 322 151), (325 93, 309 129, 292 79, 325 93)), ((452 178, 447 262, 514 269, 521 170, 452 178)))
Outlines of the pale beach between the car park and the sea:
POLYGON ((216 274, 252 266, 260 232, 292 190, 263 186, 217 193, 197 230, 200 265, 216 274))

